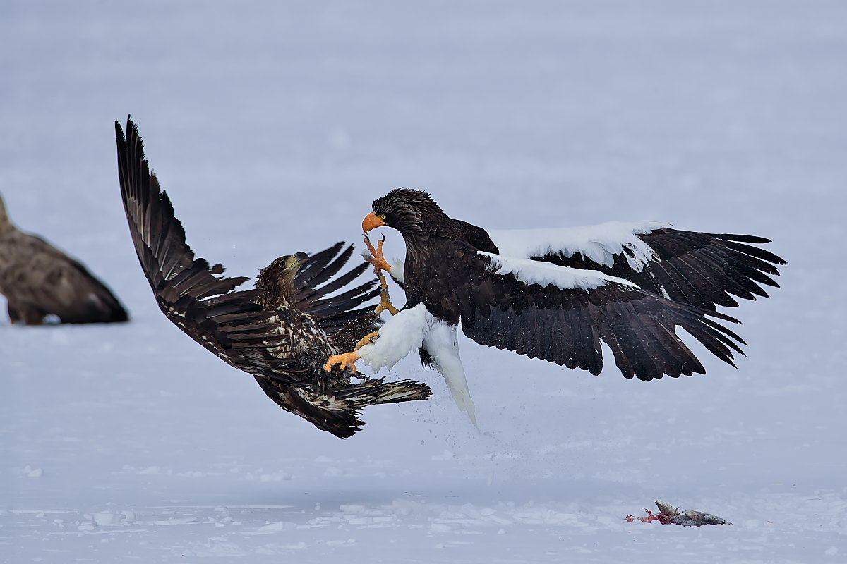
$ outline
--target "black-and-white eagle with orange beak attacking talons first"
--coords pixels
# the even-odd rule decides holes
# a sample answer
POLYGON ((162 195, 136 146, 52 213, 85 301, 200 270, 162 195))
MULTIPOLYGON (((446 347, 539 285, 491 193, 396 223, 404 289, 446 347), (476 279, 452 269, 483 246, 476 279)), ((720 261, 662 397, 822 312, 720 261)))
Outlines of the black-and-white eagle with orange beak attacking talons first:
MULTIPOLYGON (((329 359, 342 367, 363 359, 389 369, 418 347, 424 364, 445 376, 473 419, 456 330, 506 348, 597 375, 601 342, 626 378, 650 381, 706 370, 676 335, 679 326, 718 359, 734 365, 744 341, 716 320, 739 298, 767 297, 761 284, 785 261, 754 246, 768 239, 693 233, 660 223, 606 223, 573 229, 486 231, 451 219, 421 190, 396 189, 374 200, 367 233, 394 227, 406 260, 390 266, 382 242, 366 257, 406 292, 405 307, 352 353, 329 359)), ((743 353, 742 353, 743 354, 743 353)))

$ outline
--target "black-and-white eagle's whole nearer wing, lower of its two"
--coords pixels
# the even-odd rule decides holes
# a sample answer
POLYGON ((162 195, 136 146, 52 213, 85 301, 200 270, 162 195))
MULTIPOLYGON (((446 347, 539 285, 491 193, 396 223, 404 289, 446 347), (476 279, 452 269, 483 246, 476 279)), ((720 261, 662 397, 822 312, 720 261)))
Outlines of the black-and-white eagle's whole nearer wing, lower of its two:
MULTIPOLYGON (((733 364, 741 338, 718 324, 728 315, 679 304, 598 271, 468 250, 466 271, 443 304, 455 304, 462 331, 480 344, 599 374, 606 342, 626 378, 704 374, 676 334, 682 327, 733 364)), ((456 276, 457 273, 452 273, 456 276)), ((454 278, 455 279, 455 278, 454 278)))

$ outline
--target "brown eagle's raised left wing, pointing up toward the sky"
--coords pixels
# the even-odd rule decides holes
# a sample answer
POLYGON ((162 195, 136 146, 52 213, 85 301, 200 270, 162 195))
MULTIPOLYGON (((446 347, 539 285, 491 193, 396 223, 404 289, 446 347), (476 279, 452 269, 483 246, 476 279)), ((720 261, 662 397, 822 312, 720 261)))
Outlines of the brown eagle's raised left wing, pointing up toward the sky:
POLYGON ((159 309, 174 325, 235 368, 291 386, 307 383, 297 359, 280 362, 271 349, 288 347, 274 311, 258 304, 260 290, 234 291, 246 277, 221 277, 224 267, 197 259, 185 244, 168 194, 150 172, 138 129, 126 139, 115 122, 120 192, 141 269, 159 309))

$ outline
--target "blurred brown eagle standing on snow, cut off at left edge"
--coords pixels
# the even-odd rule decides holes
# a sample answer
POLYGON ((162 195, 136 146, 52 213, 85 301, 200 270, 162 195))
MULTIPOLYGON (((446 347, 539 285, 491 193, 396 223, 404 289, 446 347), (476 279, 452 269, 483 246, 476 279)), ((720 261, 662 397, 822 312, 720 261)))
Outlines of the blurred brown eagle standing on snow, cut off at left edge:
POLYGON ((42 325, 48 315, 61 323, 119 323, 124 306, 80 261, 9 221, 0 197, 0 293, 12 323, 42 325))

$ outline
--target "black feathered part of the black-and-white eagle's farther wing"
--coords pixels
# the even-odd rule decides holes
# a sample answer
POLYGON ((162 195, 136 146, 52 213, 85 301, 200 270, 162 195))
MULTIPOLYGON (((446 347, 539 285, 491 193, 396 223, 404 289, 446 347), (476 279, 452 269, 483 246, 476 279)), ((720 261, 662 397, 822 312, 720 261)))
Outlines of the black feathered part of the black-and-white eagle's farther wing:
POLYGON ((635 234, 647 244, 653 260, 641 270, 631 266, 623 251, 614 255, 614 264, 601 265, 577 252, 552 252, 533 256, 534 260, 597 270, 635 282, 639 287, 666 298, 716 310, 717 305, 734 307, 733 298, 767 298, 762 286, 779 287, 772 278, 785 260, 756 245, 770 239, 730 233, 695 233, 662 227, 650 233, 635 234))

